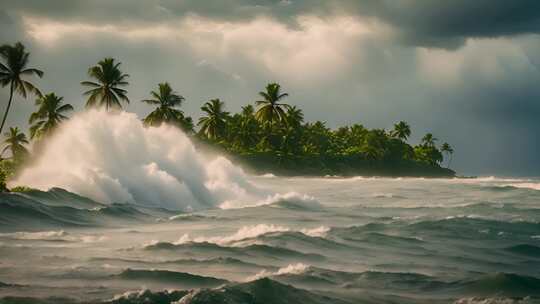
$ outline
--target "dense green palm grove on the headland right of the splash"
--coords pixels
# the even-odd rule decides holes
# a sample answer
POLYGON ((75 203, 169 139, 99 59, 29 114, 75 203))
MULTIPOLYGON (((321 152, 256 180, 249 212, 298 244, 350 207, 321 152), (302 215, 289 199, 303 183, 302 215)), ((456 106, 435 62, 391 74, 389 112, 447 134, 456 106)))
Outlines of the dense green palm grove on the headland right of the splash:
POLYGON ((400 121, 394 129, 367 129, 361 124, 332 130, 325 122, 305 122, 302 110, 281 102, 288 94, 271 83, 260 92, 263 100, 229 114, 223 102, 214 100, 202 110, 197 138, 219 147, 232 158, 258 172, 280 174, 418 175, 452 176, 440 166, 443 152, 437 139, 426 134, 419 145, 406 142, 410 126, 400 121), (278 102, 279 101, 279 102, 278 102))

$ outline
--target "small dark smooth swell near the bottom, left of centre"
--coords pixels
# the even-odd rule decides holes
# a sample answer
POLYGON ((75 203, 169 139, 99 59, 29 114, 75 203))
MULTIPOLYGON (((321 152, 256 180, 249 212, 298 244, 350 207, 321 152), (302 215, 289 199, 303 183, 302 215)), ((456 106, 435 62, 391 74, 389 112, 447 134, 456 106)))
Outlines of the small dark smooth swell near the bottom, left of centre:
POLYGON ((122 280, 137 280, 144 282, 174 283, 183 287, 216 287, 227 283, 227 280, 214 277, 200 276, 187 272, 168 270, 126 269, 112 278, 122 280))

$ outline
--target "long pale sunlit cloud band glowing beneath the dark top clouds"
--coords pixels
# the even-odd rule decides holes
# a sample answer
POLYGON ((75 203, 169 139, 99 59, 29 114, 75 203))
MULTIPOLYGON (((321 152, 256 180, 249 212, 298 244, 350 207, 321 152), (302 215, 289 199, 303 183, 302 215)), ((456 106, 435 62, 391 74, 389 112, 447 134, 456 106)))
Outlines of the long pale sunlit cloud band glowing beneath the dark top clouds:
POLYGON ((374 20, 355 17, 298 16, 296 21, 297 26, 291 27, 264 17, 246 22, 225 22, 189 16, 166 24, 118 26, 23 18, 27 33, 49 46, 82 35, 86 39, 95 39, 95 35, 114 35, 141 42, 178 40, 177 47, 190 47, 201 58, 211 59, 220 70, 231 70, 231 59, 247 60, 277 77, 292 81, 333 77, 350 65, 351 56, 358 57, 359 43, 364 38, 388 31, 374 20))

